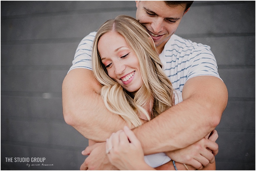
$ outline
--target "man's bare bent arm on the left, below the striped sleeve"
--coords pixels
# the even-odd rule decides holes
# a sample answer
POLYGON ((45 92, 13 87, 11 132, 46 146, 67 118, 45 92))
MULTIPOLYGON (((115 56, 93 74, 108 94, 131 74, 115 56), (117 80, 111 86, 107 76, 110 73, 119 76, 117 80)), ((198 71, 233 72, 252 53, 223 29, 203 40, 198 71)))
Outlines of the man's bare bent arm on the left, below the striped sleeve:
POLYGON ((112 132, 127 123, 107 110, 100 97, 101 85, 91 70, 77 68, 68 72, 62 84, 63 115, 66 123, 84 137, 106 141, 112 132))

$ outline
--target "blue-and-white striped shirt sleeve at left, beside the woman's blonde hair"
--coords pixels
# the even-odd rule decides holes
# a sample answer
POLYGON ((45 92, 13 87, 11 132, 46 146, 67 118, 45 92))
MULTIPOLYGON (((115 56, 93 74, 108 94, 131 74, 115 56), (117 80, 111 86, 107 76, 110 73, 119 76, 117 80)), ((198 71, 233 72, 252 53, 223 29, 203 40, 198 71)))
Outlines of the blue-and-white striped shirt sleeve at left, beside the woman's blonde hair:
MULTIPOLYGON (((74 60, 69 71, 75 68, 85 68, 92 70, 92 43, 96 32, 92 32, 85 36, 76 48, 74 60)), ((69 72, 68 71, 68 72, 69 72)))

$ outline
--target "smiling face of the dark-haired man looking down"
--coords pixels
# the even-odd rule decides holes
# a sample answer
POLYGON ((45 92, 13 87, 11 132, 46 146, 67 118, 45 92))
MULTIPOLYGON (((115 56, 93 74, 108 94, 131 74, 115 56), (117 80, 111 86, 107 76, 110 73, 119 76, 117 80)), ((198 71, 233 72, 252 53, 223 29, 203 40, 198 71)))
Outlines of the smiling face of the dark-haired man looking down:
POLYGON ((136 19, 147 28, 158 49, 163 50, 188 11, 182 6, 170 7, 164 1, 136 1, 136 19))

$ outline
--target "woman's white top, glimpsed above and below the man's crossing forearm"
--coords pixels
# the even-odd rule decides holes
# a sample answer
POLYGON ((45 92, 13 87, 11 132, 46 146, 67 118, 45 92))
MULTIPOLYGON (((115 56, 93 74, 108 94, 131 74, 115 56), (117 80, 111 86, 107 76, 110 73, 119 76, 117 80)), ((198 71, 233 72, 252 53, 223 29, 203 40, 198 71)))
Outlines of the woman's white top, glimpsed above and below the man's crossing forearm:
MULTIPOLYGON (((175 105, 182 101, 182 95, 180 91, 174 92, 174 99, 175 99, 175 105)), ((167 163, 171 159, 164 152, 159 152, 156 154, 150 154, 150 155, 144 156, 144 160, 149 166, 158 167, 167 163)))

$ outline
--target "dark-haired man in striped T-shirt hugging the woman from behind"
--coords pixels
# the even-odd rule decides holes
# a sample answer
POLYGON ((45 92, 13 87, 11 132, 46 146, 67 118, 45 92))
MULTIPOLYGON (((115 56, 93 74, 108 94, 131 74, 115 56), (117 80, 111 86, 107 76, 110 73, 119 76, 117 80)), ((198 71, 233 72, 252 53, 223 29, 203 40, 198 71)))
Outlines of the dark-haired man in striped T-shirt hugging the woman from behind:
MULTIPOLYGON (((161 53, 164 72, 183 98, 183 102, 133 129, 145 155, 174 151, 201 140, 219 124, 227 105, 227 88, 218 75, 210 48, 173 35, 192 4, 175 3, 136 1, 136 19, 147 28, 161 53)), ((93 33, 81 41, 73 66, 63 81, 63 114, 65 121, 84 137, 104 142, 126 123, 110 113, 100 98, 101 86, 88 64, 92 40, 93 33)), ((87 148, 84 154, 90 156, 81 169, 110 169, 104 165, 108 163, 104 151, 104 144, 87 148), (95 163, 100 166, 96 167, 95 163)), ((198 163, 195 165, 202 168, 198 163)))

